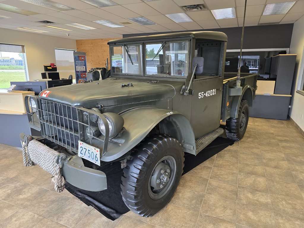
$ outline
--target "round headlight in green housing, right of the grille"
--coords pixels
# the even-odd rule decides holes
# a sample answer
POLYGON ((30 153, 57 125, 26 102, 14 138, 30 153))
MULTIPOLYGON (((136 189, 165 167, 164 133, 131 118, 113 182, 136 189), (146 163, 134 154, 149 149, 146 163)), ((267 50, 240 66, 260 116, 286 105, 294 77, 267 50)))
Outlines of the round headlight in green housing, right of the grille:
MULTIPOLYGON (((109 138, 115 137, 123 129, 123 117, 113 112, 105 112, 102 115, 105 116, 109 124, 109 138)), ((105 125, 100 118, 98 118, 98 128, 100 132, 105 135, 105 125)))

